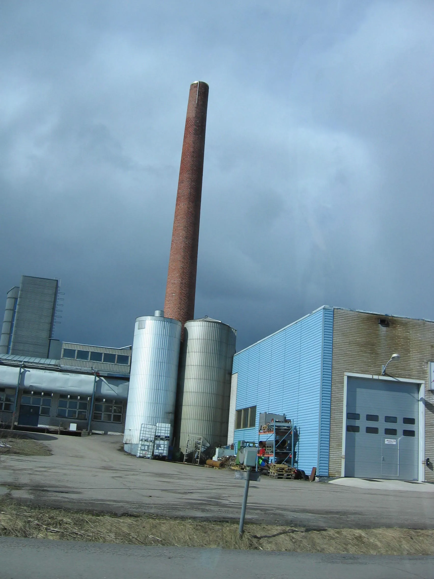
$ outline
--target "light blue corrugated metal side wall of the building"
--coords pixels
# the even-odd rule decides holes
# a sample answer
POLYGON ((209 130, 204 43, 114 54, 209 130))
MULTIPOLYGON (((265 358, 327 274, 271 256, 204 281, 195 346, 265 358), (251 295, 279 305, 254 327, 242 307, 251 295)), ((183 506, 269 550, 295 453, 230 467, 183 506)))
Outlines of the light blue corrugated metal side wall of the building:
POLYGON ((258 440, 260 412, 285 414, 300 431, 299 468, 328 475, 332 331, 333 310, 322 308, 234 356, 236 408, 256 405, 256 427, 235 442, 258 440))

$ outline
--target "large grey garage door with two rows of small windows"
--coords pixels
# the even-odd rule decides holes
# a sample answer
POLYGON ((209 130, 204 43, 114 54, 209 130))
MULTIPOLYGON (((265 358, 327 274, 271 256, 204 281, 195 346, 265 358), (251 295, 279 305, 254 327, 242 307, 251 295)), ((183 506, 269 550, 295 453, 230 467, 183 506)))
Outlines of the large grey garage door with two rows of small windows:
POLYGON ((347 379, 345 477, 418 479, 417 384, 347 379))

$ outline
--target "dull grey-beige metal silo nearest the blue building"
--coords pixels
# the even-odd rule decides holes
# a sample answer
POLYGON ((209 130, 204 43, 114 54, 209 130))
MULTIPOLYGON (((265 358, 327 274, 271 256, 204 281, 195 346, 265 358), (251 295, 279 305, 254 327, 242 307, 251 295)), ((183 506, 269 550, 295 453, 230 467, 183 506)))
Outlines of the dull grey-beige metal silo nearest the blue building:
POLYGON ((188 321, 179 367, 176 446, 204 437, 226 444, 230 381, 237 332, 212 318, 188 321))

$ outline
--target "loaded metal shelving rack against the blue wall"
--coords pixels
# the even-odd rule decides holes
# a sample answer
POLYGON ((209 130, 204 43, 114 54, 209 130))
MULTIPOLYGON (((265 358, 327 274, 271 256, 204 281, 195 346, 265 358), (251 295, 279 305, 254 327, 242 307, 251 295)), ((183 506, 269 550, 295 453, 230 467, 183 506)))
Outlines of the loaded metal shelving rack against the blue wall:
POLYGON ((266 426, 260 427, 258 446, 260 441, 266 443, 266 454, 264 456, 269 457, 270 463, 297 466, 299 431, 292 420, 286 420, 285 422, 273 420, 266 426))

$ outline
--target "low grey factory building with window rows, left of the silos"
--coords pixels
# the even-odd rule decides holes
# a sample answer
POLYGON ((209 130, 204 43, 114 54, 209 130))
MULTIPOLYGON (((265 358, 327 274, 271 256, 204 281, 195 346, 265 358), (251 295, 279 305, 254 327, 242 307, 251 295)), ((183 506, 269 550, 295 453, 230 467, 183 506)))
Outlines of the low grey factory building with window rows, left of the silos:
POLYGON ((61 353, 0 354, 0 426, 122 434, 130 347, 62 343, 61 353))

